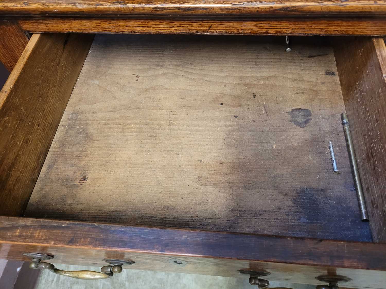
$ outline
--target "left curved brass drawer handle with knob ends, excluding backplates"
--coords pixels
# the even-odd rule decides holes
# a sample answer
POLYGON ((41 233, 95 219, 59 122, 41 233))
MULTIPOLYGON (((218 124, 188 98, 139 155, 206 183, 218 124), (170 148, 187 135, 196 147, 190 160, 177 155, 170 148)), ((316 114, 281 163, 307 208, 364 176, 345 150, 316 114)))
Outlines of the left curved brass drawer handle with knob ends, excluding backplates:
POLYGON ((122 272, 121 265, 107 265, 103 266, 100 271, 90 271, 90 270, 81 270, 81 271, 64 271, 55 268, 51 263, 42 262, 40 259, 32 259, 29 263, 31 269, 47 269, 55 274, 67 276, 75 279, 83 280, 98 280, 98 279, 107 279, 114 275, 114 273, 122 272))

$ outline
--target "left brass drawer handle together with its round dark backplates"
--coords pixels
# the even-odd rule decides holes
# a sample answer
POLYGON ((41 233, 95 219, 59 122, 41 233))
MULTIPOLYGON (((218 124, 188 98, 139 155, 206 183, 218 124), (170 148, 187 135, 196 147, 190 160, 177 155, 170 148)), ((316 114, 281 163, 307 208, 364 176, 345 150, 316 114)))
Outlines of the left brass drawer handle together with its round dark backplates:
POLYGON ((104 261, 111 264, 103 266, 100 271, 90 271, 90 270, 81 270, 81 271, 64 271, 57 269, 53 264, 42 262, 42 260, 52 259, 52 255, 39 254, 39 253, 23 253, 23 255, 30 257, 32 260, 29 263, 31 269, 47 269, 55 274, 67 276, 75 279, 83 280, 98 280, 98 279, 107 279, 114 275, 114 273, 122 272, 122 265, 131 265, 134 264, 134 261, 122 261, 115 259, 105 259, 104 261))

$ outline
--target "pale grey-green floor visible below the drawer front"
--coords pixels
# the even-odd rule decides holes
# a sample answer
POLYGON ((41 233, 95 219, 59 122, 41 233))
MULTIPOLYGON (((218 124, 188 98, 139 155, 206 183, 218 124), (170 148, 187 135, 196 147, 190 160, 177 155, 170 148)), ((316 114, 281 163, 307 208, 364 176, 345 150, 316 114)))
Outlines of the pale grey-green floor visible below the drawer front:
MULTIPOLYGON (((58 265, 63 270, 94 270, 99 267, 58 265)), ((315 285, 270 282, 270 287, 290 287, 294 289, 315 289, 315 285)), ((78 280, 59 276, 42 270, 35 289, 254 289, 247 278, 229 278, 170 272, 125 270, 105 280, 78 280)))

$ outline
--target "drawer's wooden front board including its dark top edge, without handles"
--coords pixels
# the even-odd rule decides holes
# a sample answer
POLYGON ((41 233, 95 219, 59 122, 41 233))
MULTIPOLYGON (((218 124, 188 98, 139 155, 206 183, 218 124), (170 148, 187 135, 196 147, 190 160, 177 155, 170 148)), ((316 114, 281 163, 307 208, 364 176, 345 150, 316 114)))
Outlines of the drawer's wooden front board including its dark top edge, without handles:
POLYGON ((321 284, 315 277, 333 272, 352 279, 340 286, 366 289, 386 288, 385 246, 0 217, 3 259, 27 260, 22 252, 41 252, 54 255, 50 262, 58 264, 99 266, 106 265, 106 258, 124 259, 135 261, 125 269, 228 277, 242 277, 237 270, 252 269, 270 272, 264 279, 303 284, 321 284))

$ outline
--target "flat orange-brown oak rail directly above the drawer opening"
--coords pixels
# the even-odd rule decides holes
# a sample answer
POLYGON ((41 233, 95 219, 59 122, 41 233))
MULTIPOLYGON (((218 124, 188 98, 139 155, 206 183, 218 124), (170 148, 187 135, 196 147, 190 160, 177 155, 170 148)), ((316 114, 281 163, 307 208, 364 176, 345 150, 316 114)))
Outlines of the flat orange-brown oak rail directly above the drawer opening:
POLYGON ((29 32, 131 33, 131 34, 240 34, 240 35, 386 35, 384 19, 24 19, 29 32))

